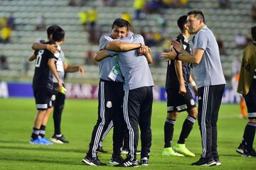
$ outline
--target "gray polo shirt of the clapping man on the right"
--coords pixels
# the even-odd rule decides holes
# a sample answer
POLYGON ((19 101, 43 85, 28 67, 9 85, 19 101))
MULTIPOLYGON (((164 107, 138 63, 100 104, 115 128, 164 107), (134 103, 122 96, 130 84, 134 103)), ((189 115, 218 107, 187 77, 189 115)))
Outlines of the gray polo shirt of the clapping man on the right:
POLYGON ((199 64, 193 64, 193 74, 198 88, 225 84, 225 77, 220 63, 220 52, 213 32, 204 26, 193 39, 193 50, 203 49, 199 64))

